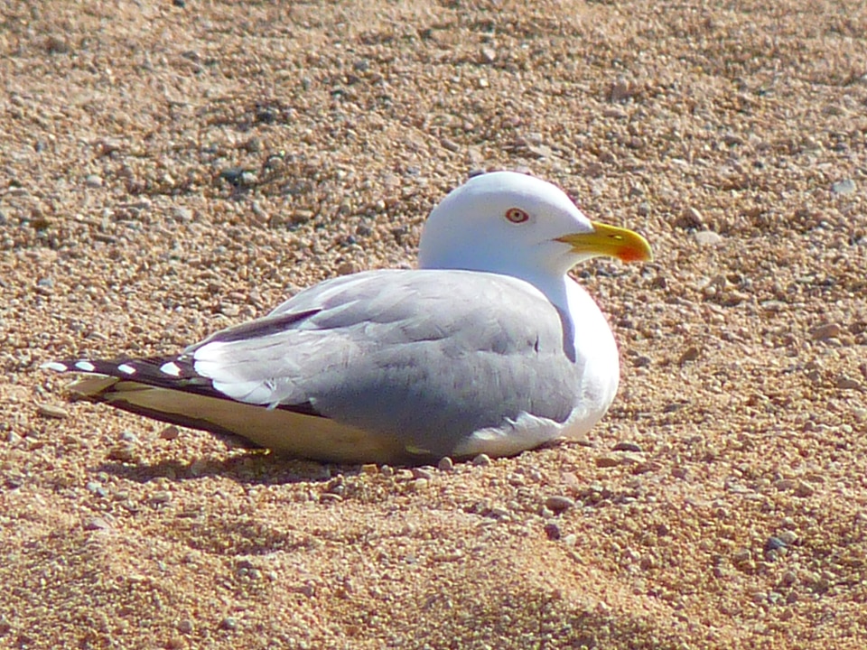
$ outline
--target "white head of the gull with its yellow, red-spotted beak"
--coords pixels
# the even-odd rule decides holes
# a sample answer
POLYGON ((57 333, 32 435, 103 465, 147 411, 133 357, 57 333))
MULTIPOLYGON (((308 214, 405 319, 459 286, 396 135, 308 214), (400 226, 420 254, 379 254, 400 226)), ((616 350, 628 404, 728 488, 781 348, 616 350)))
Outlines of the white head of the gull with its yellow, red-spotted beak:
POLYGON ((563 190, 517 172, 467 181, 424 224, 421 268, 514 275, 529 282, 563 276, 591 257, 651 259, 644 237, 583 215, 563 190))

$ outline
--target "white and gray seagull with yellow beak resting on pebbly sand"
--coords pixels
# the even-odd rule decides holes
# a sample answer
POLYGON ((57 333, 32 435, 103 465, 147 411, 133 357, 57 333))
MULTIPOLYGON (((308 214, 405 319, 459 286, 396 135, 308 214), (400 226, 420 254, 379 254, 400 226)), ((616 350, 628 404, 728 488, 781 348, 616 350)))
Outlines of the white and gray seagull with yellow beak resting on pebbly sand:
POLYGON ((418 268, 318 283, 180 354, 70 359, 70 392, 294 458, 422 464, 511 456, 586 434, 620 359, 569 275, 592 257, 652 258, 555 185, 489 172, 425 221, 418 268))

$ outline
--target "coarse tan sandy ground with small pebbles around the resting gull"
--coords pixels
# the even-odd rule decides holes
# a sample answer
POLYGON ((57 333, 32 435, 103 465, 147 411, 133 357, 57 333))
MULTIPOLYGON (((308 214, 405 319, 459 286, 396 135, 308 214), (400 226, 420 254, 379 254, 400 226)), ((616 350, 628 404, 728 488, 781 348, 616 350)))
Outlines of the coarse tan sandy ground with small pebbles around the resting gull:
POLYGON ((346 5, 3 5, 0 646, 864 647, 863 4, 346 5), (655 248, 577 269, 586 441, 323 466, 38 370, 412 265, 503 168, 655 248))

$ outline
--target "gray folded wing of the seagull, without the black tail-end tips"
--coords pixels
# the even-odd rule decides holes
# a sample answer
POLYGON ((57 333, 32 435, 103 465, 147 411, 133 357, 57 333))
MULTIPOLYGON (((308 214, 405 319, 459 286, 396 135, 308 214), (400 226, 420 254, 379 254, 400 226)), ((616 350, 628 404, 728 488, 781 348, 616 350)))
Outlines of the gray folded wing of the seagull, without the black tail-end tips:
POLYGON ((446 453, 522 413, 564 422, 580 368, 555 307, 527 283, 374 271, 318 284, 179 361, 240 402, 318 413, 446 453))

